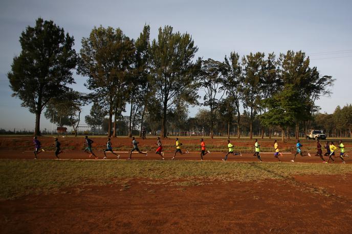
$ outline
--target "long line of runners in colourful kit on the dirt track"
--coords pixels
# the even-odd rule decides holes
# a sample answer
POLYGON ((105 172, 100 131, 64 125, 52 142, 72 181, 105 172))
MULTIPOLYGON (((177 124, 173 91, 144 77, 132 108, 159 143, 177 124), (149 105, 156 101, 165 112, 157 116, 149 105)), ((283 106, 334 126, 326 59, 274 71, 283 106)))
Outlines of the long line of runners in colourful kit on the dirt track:
MULTIPOLYGON (((93 150, 92 150, 92 143, 93 143, 93 141, 90 138, 88 138, 88 136, 84 137, 84 146, 85 146, 84 152, 89 154, 89 157, 94 156, 95 159, 98 159, 98 156, 95 155, 93 150)), ((37 159, 37 154, 39 154, 39 153, 41 153, 41 152, 43 152, 45 150, 41 148, 40 142, 38 141, 36 136, 34 136, 34 138, 33 138, 33 144, 35 145, 35 150, 34 150, 35 159, 37 159)), ((129 151, 129 157, 127 158, 128 160, 131 159, 132 152, 134 152, 134 151, 137 151, 140 154, 145 154, 145 156, 148 156, 147 152, 144 153, 144 152, 141 152, 139 150, 138 144, 139 144, 139 142, 136 141, 136 138, 132 137, 133 148, 129 151)), ((162 160, 164 160, 165 159, 164 158, 164 151, 163 151, 163 146, 162 146, 160 137, 157 138, 156 145, 158 146, 157 150, 156 150, 156 154, 159 154, 161 156, 162 160)), ((54 140, 54 146, 55 146, 55 157, 59 158, 58 155, 60 153, 62 153, 63 151, 60 149, 60 143, 58 141, 58 138, 56 138, 56 137, 55 137, 55 140, 54 140)), ((181 146, 182 146, 182 143, 179 141, 179 138, 176 138, 176 143, 175 143, 176 150, 175 150, 171 160, 173 160, 176 157, 177 153, 180 153, 180 155, 189 153, 188 150, 186 152, 182 152, 181 146)), ((227 147, 228 147, 228 153, 222 159, 223 161, 227 160, 229 154, 242 156, 241 152, 234 152, 234 146, 230 143, 230 140, 227 141, 227 147)), ((291 160, 291 162, 295 161, 297 154, 299 154, 301 157, 303 157, 303 156, 310 156, 311 157, 310 153, 303 154, 301 147, 303 147, 303 145, 299 142, 299 140, 297 140, 296 153, 295 153, 293 159, 291 160)), ((334 145, 334 142, 326 142, 326 144, 324 145, 324 148, 326 149, 326 153, 324 154, 324 156, 328 156, 327 161, 323 158, 322 147, 320 145, 319 139, 317 139, 317 153, 315 154, 315 156, 319 156, 323 160, 323 163, 328 163, 329 160, 332 160, 332 162, 334 162, 335 161, 334 158, 336 158, 335 151, 338 148, 340 148, 340 156, 339 156, 339 158, 342 160, 342 163, 345 163, 345 160, 344 160, 343 157, 344 156, 348 156, 348 155, 345 153, 345 147, 344 147, 344 145, 343 145, 341 140, 339 141, 338 147, 336 147, 334 145)), ((282 157, 283 155, 280 152, 279 145, 278 145, 276 140, 274 140, 274 150, 275 150, 274 157, 277 158, 279 162, 281 162, 279 156, 282 157)), ((107 158, 106 152, 111 152, 114 155, 116 155, 118 159, 120 158, 120 155, 116 154, 113 151, 113 147, 112 147, 112 143, 111 143, 111 139, 110 138, 107 138, 106 149, 103 152, 104 152, 103 159, 107 158)), ((206 150, 204 139, 201 138, 201 155, 200 156, 201 156, 201 160, 202 161, 203 161, 203 156, 205 156, 208 153, 211 153, 211 152, 209 150, 206 150)), ((260 157, 260 145, 258 143, 258 139, 255 139, 255 142, 254 142, 254 154, 253 154, 253 156, 257 157, 257 159, 260 162, 262 162, 261 157, 260 157)))

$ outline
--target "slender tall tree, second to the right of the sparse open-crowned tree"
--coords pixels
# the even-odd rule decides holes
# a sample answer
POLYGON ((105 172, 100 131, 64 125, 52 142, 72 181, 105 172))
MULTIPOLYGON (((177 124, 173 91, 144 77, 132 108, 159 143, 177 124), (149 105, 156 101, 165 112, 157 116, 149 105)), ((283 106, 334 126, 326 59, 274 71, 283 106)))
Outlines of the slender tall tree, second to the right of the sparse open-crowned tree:
POLYGON ((250 109, 250 133, 249 138, 253 137, 253 119, 258 109, 258 104, 260 102, 259 97, 259 85, 260 78, 263 76, 263 66, 264 66, 264 53, 257 52, 256 54, 250 53, 242 59, 244 68, 244 98, 243 103, 245 108, 250 109))

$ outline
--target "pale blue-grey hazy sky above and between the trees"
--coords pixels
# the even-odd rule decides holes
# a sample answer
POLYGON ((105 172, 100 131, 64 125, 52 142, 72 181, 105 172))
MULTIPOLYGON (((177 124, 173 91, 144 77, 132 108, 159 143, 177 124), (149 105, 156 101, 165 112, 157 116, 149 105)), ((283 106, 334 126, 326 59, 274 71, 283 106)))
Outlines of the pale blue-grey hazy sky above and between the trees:
MULTIPOLYGON (((145 24, 150 38, 165 25, 174 31, 192 35, 199 51, 195 57, 223 61, 236 51, 285 53, 303 51, 311 66, 335 81, 330 97, 317 101, 320 112, 332 113, 336 106, 352 103, 352 1, 51 1, 2 0, 0 2, 0 128, 33 130, 34 114, 21 107, 21 100, 11 97, 7 73, 13 57, 19 55, 19 36, 42 17, 53 20, 75 38, 79 52, 81 39, 94 26, 120 28, 130 38, 137 38, 145 24)), ((89 92, 85 77, 74 73, 75 90, 89 92)), ((202 95, 202 93, 200 93, 202 95)), ((91 106, 83 108, 82 116, 91 106)), ((191 107, 194 116, 200 107, 191 107)), ((126 111, 128 111, 128 106, 126 111)), ((126 114, 127 115, 127 114, 126 114)), ((84 123, 82 123, 84 125, 84 123)), ((41 129, 51 130, 51 123, 41 116, 41 129)))

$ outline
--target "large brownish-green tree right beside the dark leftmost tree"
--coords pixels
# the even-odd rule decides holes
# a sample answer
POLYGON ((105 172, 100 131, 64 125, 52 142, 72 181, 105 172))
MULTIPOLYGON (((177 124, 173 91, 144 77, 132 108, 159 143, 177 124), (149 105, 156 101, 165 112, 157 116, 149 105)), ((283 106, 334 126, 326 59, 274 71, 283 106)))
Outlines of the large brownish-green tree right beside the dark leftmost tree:
MULTIPOLYGON (((108 129, 112 129, 112 118, 115 116, 113 136, 116 136, 116 122, 129 98, 134 54, 133 40, 119 28, 95 27, 88 38, 82 39, 78 74, 89 77, 85 85, 94 90, 94 101, 107 107, 108 129)), ((111 136, 111 131, 107 135, 111 136)))

